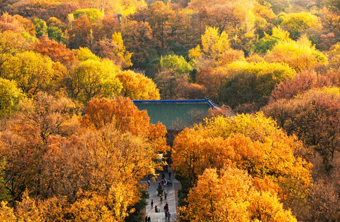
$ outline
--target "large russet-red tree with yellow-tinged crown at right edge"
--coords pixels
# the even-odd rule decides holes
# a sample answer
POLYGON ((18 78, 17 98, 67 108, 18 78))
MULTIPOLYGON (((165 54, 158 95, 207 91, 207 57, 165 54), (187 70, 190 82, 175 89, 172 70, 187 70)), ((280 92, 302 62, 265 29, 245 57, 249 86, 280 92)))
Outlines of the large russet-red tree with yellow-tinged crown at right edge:
POLYGON ((340 152, 340 89, 310 89, 291 99, 278 99, 263 108, 288 134, 296 134, 319 151, 327 170, 340 152))

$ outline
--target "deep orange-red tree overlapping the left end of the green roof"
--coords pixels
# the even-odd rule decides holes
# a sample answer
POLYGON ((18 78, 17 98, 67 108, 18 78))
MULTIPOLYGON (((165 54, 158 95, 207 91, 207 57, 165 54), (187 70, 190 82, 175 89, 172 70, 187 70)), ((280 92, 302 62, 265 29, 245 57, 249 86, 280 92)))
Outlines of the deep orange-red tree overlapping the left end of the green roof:
POLYGON ((100 129, 112 125, 123 133, 131 132, 152 143, 159 151, 166 151, 165 126, 149 122, 146 110, 138 110, 129 98, 124 97, 92 99, 87 104, 83 120, 83 124, 88 127, 100 129))

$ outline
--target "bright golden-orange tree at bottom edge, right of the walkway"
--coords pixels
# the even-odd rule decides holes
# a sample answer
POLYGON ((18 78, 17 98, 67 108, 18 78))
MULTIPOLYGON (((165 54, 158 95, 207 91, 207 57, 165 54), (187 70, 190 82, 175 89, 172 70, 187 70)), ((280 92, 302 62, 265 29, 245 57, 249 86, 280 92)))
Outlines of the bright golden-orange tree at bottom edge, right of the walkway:
POLYGON ((243 170, 227 166, 220 172, 206 169, 189 191, 188 206, 179 207, 181 218, 198 221, 296 222, 276 194, 257 191, 243 170))

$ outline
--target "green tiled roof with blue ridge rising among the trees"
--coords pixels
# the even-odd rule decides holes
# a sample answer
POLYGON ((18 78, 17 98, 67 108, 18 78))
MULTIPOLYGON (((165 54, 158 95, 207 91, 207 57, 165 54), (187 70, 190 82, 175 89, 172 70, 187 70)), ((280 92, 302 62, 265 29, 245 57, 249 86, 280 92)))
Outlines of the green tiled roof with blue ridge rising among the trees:
POLYGON ((163 123, 167 130, 181 130, 199 123, 208 109, 218 107, 208 99, 202 100, 134 100, 139 110, 147 110, 150 123, 163 123))

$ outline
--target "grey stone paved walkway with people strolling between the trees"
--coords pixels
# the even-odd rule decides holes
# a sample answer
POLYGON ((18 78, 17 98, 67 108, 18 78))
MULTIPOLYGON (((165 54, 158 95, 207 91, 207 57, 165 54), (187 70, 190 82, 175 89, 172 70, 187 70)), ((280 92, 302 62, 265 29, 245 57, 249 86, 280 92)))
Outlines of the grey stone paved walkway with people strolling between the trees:
MULTIPOLYGON (((165 173, 165 178, 168 179, 169 175, 168 173, 165 173)), ((172 173, 172 172, 171 172, 172 173)), ((159 177, 162 177, 159 175, 159 177)), ((171 179, 173 180, 173 174, 171 175, 171 179)), ((174 181, 173 181, 174 182, 174 181)), ((165 200, 163 197, 163 203, 160 203, 160 198, 157 196, 158 192, 158 182, 153 182, 151 181, 150 187, 149 187, 149 194, 150 198, 147 199, 148 206, 146 206, 146 216, 151 218, 151 222, 165 222, 165 212, 163 207, 165 206, 166 203, 169 204, 169 212, 171 214, 170 217, 170 222, 175 222, 176 218, 176 202, 175 202, 175 190, 173 185, 168 187, 168 186, 163 186, 165 192, 168 193, 167 199, 165 200), (151 208, 151 200, 153 200, 154 204, 153 207, 151 208), (157 205, 158 209, 160 209, 160 213, 155 213, 155 206, 157 205)), ((168 220, 167 220, 168 221, 168 220)))

